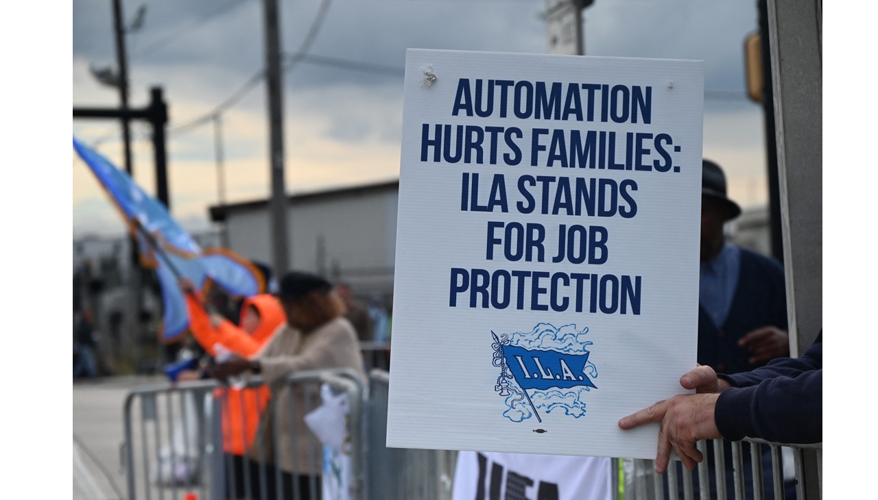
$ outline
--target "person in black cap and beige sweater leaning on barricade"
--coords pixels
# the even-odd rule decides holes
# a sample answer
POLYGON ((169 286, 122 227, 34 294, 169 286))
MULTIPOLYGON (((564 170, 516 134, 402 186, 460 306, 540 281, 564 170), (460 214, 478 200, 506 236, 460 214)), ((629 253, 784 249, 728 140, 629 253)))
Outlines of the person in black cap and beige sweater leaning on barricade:
POLYGON ((272 394, 276 411, 263 412, 263 428, 268 429, 266 434, 277 428, 279 435, 266 436, 265 442, 257 437, 248 451, 248 457, 255 461, 251 462, 249 474, 253 497, 260 498, 263 489, 268 498, 279 497, 275 481, 279 468, 284 498, 318 498, 321 461, 309 461, 309 443, 315 438, 304 421, 306 391, 283 385, 277 387, 275 382, 292 373, 329 368, 351 368, 365 382, 363 357, 354 327, 344 318, 342 299, 327 280, 302 272, 287 273, 280 281, 278 298, 286 313, 286 325, 255 355, 218 363, 210 371, 222 382, 243 373, 261 374, 266 384, 277 389, 272 394), (289 415, 293 408, 298 411, 289 415), (267 417, 277 418, 277 422, 266 424, 267 417), (271 463, 274 461, 272 447, 277 453, 277 463, 271 463), (294 496, 293 489, 299 490, 299 496, 294 496))

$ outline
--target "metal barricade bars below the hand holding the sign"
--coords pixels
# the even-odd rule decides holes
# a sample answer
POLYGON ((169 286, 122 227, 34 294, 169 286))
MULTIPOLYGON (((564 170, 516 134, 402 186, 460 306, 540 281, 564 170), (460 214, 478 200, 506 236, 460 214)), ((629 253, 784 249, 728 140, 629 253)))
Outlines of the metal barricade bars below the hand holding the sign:
MULTIPOLYGON (((654 460, 616 459, 624 470, 624 500, 819 500, 823 491, 823 445, 790 445, 762 439, 725 441, 713 439, 697 443, 704 460, 690 472, 680 461, 671 461, 663 475, 656 474, 654 460), (723 446, 731 448, 731 463, 725 461, 723 446), (745 467, 745 449, 749 464, 745 467), (770 457, 771 474, 764 474, 764 457, 770 457), (788 461, 792 458, 793 467, 788 461), (787 463, 785 463, 787 462, 787 463), (714 466, 711 470, 711 464, 714 466), (792 469, 793 473, 785 474, 792 469), (730 469, 730 474, 727 474, 730 469), (729 477, 730 476, 730 477, 729 477), (709 485, 703 487, 702 485, 709 485), (729 491, 732 493, 730 494, 729 491)), ((618 492, 615 492, 618 493, 618 492)))

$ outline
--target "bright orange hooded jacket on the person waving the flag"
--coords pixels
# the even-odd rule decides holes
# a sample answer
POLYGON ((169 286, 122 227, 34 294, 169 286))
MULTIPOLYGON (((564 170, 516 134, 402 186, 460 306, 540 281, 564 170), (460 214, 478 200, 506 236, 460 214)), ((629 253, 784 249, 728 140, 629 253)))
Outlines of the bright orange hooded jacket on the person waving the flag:
MULTIPOLYGON (((253 305, 259 311, 259 325, 253 334, 229 321, 223 321, 214 329, 210 317, 198 301, 187 295, 186 305, 192 336, 211 355, 215 355, 213 345, 219 342, 234 354, 250 357, 268 342, 278 326, 286 323, 284 309, 277 297, 269 294, 248 297, 241 306, 241 323, 247 315, 248 305, 253 305)), ((270 391, 267 387, 217 389, 214 396, 223 402, 223 449, 229 454, 243 455, 253 443, 259 425, 259 414, 269 402, 270 391)))

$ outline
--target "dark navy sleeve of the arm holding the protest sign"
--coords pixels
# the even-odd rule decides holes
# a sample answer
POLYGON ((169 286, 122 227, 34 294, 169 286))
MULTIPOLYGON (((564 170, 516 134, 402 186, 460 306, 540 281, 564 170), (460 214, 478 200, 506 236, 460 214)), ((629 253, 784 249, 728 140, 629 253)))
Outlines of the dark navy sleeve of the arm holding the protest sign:
POLYGON ((823 441, 823 333, 801 358, 722 375, 732 385, 716 401, 716 428, 726 439, 790 444, 823 441))

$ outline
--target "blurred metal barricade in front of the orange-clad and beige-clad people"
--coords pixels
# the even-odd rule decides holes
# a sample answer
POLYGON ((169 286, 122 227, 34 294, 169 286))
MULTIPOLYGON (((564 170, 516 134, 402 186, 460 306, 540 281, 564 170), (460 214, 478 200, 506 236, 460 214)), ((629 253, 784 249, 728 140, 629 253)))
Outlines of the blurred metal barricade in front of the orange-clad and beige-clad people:
MULTIPOLYGON (((348 480, 339 476, 337 482, 347 488, 351 500, 365 498, 366 476, 363 473, 366 464, 365 419, 363 418, 365 403, 365 387, 355 372, 348 369, 315 370, 299 372, 278 381, 272 387, 272 398, 283 391, 296 394, 296 397, 285 398, 283 404, 269 404, 258 408, 261 419, 271 411, 268 422, 272 427, 272 444, 277 445, 281 426, 288 424, 291 428, 304 425, 304 416, 317 409, 322 400, 320 388, 327 385, 333 394, 346 394, 348 415, 344 425, 347 430, 345 451, 342 454, 324 454, 324 446, 313 432, 302 432, 304 442, 298 432, 291 432, 291 447, 305 450, 304 463, 299 453, 292 454, 287 464, 293 470, 313 471, 306 481, 310 491, 321 489, 324 461, 338 460, 343 463, 349 475, 348 480), (347 457, 347 461, 345 461, 347 457)), ((182 499, 191 498, 194 494, 198 500, 220 500, 227 497, 227 490, 236 482, 240 482, 245 496, 255 500, 269 498, 268 491, 263 488, 262 495, 255 496, 252 475, 260 475, 263 485, 272 483, 277 488, 277 496, 284 498, 284 482, 282 469, 267 466, 267 461, 252 460, 249 454, 241 457, 241 477, 236 477, 233 458, 226 454, 223 446, 222 409, 227 408, 227 398, 245 396, 243 391, 216 391, 220 386, 216 382, 184 382, 179 384, 152 386, 134 389, 126 397, 125 403, 125 443, 122 449, 122 461, 126 468, 128 500, 145 498, 182 499), (182 445, 180 443, 183 443, 182 445), (272 476, 272 477, 270 477, 272 476)), ((263 386, 260 378, 250 380, 244 389, 259 389, 263 386)), ((227 389, 227 388, 223 388, 227 389)), ((258 398, 254 398, 258 401, 258 398)), ((242 405, 239 408, 243 409, 242 405)), ((246 414, 242 411, 244 425, 241 432, 247 432, 246 414)), ((266 432, 266 425, 260 425, 258 432, 266 432)), ((255 457, 265 459, 269 450, 263 448, 263 442, 254 437, 241 436, 247 442, 253 442, 255 457)), ((281 463, 281 454, 290 451, 273 448, 273 462, 281 463)), ((332 463, 335 463, 333 461, 332 463)), ((342 474, 344 470, 340 471, 342 474)), ((288 500, 308 500, 299 495, 299 489, 291 488, 292 496, 288 500)), ((312 494, 313 498, 318 494, 312 494)))

